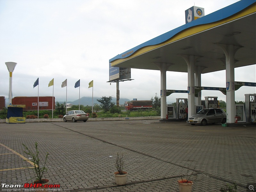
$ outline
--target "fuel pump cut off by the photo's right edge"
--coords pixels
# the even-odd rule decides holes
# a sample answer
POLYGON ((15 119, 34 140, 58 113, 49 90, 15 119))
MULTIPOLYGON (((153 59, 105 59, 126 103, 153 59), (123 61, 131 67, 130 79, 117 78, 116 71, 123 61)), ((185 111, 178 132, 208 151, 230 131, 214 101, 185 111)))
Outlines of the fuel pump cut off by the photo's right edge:
POLYGON ((245 115, 247 123, 256 123, 256 94, 245 95, 245 115))

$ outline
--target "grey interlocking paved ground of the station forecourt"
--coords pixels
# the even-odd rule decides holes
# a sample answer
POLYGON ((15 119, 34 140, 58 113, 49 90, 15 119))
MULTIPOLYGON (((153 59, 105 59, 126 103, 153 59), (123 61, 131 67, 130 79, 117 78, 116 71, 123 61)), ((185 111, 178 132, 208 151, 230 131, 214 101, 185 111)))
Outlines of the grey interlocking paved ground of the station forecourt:
MULTIPOLYGON (((33 170, 25 168, 32 165, 21 156, 27 157, 22 143, 33 148, 35 141, 41 154, 50 153, 45 177, 60 184, 55 191, 177 192, 177 180, 187 166, 197 173, 193 191, 219 191, 232 182, 237 191, 246 191, 248 183, 256 182, 255 126, 158 120, 52 122, 0 124, 0 135, 1 183, 34 180, 33 170), (117 152, 124 154, 125 186, 115 184, 117 152)), ((1 185, 0 191, 5 189, 1 185)))

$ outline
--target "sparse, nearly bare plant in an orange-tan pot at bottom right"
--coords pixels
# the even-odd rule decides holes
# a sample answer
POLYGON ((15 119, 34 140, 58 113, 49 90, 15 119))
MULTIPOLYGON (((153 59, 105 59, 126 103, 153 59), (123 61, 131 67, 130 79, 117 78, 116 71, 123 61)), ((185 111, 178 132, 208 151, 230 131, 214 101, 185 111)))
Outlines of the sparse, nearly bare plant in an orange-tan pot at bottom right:
MULTIPOLYGON (((193 181, 190 180, 190 178, 193 175, 194 171, 195 171, 195 168, 192 171, 192 173, 189 175, 188 174, 189 169, 188 169, 187 175, 181 175, 181 179, 177 180, 178 184, 179 184, 179 191, 180 192, 191 192, 192 191, 193 181)), ((197 178, 197 175, 196 175, 196 178, 197 178)), ((195 180, 196 180, 196 178, 195 178, 195 180)))

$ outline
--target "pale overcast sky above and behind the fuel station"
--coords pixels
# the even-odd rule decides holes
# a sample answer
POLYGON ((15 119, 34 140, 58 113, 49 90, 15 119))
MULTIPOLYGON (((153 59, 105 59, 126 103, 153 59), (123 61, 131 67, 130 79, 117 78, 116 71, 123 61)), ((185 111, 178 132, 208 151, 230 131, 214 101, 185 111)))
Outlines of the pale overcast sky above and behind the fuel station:
MULTIPOLYGON (((54 78, 56 101, 92 97, 88 83, 94 80, 93 97, 116 97, 116 83, 109 79, 109 59, 139 44, 185 24, 185 10, 203 7, 205 15, 237 0, 0 0, 0 96, 9 97, 9 72, 5 62, 16 62, 12 95, 37 96, 33 88, 39 77, 39 96, 52 96, 49 82, 54 78), (175 4, 174 4, 175 3, 175 4)), ((236 68, 235 81, 256 82, 255 65, 236 68)), ((120 82, 120 98, 149 100, 160 97, 160 71, 131 70, 132 81, 120 82)), ((167 89, 187 90, 187 73, 167 72, 167 89)), ((226 87, 225 70, 202 74, 202 86, 226 87), (210 81, 208 79, 215 79, 210 81)), ((255 87, 241 87, 235 100, 255 93, 255 87)), ((219 91, 203 91, 217 96, 219 91)), ((167 97, 167 104, 185 93, 167 97)), ((120 103, 121 104, 121 103, 120 103)))

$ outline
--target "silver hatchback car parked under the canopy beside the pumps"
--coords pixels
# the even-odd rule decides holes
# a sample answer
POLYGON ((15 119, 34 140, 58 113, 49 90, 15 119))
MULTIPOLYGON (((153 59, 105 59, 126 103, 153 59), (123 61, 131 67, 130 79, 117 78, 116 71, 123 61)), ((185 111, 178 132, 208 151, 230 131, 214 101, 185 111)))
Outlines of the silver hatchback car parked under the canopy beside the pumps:
POLYGON ((208 123, 226 123, 227 114, 225 111, 219 108, 202 109, 195 115, 188 118, 188 123, 191 125, 201 124, 206 125, 208 123))

